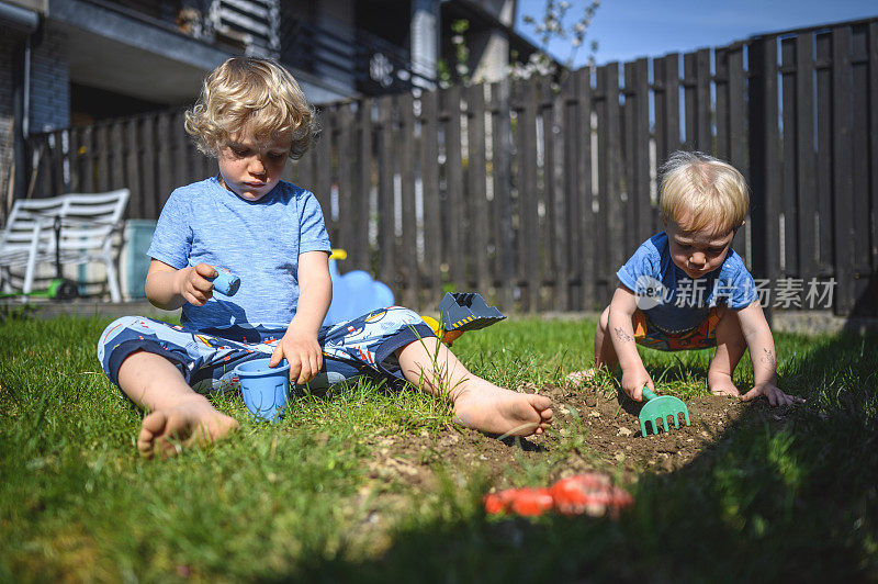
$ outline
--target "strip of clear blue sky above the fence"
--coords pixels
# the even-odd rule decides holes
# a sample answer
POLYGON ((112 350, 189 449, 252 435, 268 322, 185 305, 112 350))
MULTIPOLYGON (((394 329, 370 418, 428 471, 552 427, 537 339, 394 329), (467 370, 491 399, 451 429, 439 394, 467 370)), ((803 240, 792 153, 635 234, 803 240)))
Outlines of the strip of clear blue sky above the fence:
MULTIPOLYGON (((567 0, 576 8, 586 0, 567 0)), ((543 0, 519 0, 520 34, 537 41, 533 29, 521 22, 525 14, 542 14, 543 0)), ((589 40, 598 42, 598 64, 658 57, 666 53, 722 46, 758 33, 784 31, 878 16, 878 0, 603 0, 595 12, 589 40)), ((569 45, 550 47, 566 60, 569 45)), ((581 66, 588 50, 581 48, 574 65, 581 66)))

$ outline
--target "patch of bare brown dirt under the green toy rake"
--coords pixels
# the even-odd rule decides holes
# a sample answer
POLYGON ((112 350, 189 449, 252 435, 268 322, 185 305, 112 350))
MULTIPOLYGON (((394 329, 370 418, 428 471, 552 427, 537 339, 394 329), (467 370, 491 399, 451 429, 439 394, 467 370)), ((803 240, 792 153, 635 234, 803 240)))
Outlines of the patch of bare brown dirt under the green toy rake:
MULTIPOLYGON (((461 475, 486 474, 498 487, 510 467, 552 464, 554 479, 587 471, 614 472, 635 480, 642 472, 672 472, 709 451, 731 431, 751 424, 784 425, 792 407, 770 407, 765 400, 744 403, 734 397, 701 396, 686 400, 690 426, 648 436, 640 430, 641 404, 594 389, 544 388, 551 397, 554 428, 542 436, 498 440, 482 433, 447 426, 418 435, 373 436, 367 439, 375 454, 370 475, 378 481, 398 480, 415 488, 434 488, 434 467, 461 475)), ((680 416, 683 419, 683 416, 680 416)), ((539 485, 531 485, 539 486, 539 485)))

